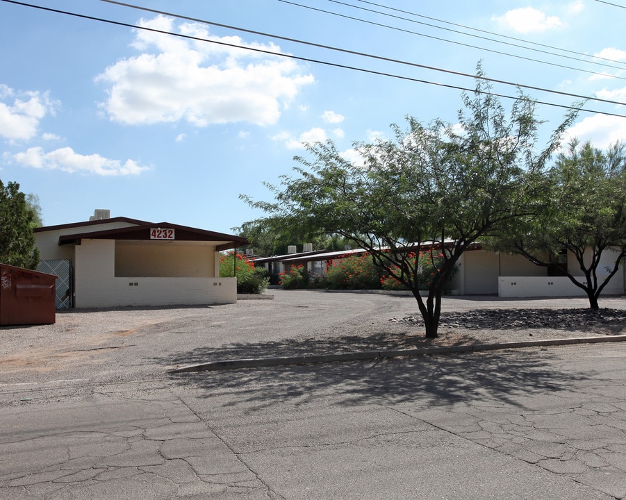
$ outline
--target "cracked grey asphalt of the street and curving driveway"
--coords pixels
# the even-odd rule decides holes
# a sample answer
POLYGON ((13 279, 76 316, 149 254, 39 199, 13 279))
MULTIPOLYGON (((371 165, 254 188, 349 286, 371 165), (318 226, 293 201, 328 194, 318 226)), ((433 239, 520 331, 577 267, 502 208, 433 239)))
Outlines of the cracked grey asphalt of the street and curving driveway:
POLYGON ((0 499, 626 498, 623 342, 167 374, 263 338, 356 342, 411 301, 286 292, 2 327, 0 499))

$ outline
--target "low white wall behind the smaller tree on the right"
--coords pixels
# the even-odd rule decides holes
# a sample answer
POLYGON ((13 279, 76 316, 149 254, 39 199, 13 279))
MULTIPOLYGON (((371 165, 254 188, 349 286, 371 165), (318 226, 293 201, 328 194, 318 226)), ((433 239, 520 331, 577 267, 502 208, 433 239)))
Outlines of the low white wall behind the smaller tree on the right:
MULTIPOLYGON (((599 276, 602 283, 605 276, 599 276)), ((579 278, 584 283, 583 278, 579 278)), ((621 295, 624 293, 623 282, 613 276, 609 284, 602 290, 604 295, 621 295)), ((498 278, 499 297, 586 297, 566 276, 500 276, 498 278)))

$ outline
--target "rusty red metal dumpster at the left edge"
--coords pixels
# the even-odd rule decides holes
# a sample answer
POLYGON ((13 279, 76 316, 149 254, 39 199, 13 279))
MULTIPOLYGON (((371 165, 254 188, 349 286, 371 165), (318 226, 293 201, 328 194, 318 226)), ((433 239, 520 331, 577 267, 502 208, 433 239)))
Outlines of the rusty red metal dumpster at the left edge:
POLYGON ((56 322, 56 276, 0 264, 0 326, 56 322))

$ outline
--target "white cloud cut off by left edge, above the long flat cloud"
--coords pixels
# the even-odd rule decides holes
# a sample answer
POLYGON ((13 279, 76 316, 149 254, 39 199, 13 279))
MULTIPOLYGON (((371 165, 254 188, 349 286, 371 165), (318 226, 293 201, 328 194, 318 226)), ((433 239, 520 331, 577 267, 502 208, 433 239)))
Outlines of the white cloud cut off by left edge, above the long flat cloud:
POLYGON ((34 138, 41 120, 57 106, 47 93, 15 92, 6 85, 0 85, 0 99, 8 101, 0 101, 0 136, 12 142, 34 138))

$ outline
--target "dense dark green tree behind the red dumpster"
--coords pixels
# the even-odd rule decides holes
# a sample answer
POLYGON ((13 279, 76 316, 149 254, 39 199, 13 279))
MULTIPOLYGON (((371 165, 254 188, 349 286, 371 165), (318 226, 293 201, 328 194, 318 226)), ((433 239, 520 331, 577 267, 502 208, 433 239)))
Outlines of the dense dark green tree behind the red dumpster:
POLYGON ((36 214, 28 208, 19 184, 0 181, 0 263, 35 269, 39 250, 35 247, 36 214))

